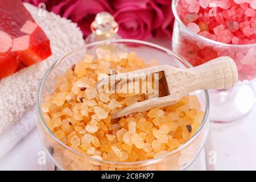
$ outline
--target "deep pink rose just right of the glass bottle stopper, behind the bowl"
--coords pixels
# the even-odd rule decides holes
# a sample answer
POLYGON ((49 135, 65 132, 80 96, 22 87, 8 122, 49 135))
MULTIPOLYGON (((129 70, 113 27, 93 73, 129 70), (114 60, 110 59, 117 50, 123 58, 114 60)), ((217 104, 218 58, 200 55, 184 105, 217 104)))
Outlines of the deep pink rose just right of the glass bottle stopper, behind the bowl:
POLYGON ((122 38, 149 39, 164 20, 162 10, 152 0, 114 0, 113 7, 122 38))

